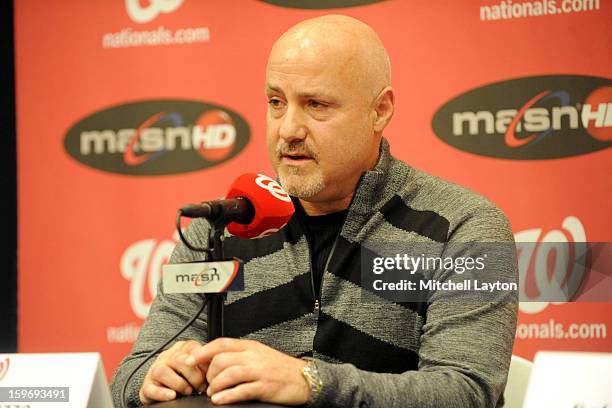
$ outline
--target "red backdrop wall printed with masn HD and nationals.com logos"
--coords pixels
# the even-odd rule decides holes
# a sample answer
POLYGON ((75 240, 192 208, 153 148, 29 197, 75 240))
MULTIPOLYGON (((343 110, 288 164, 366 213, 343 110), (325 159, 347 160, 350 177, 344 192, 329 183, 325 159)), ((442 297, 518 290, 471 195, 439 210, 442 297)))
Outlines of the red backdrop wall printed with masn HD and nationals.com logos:
MULTIPOLYGON (((288 27, 322 14, 359 18, 386 44, 397 98, 386 137, 397 157, 493 200, 519 240, 551 233, 549 240, 562 236, 570 247, 611 241, 612 2, 515 1, 512 8, 389 0, 333 10, 300 8, 316 1, 276 3, 293 7, 16 2, 19 351, 100 351, 107 373, 114 371, 176 242, 176 209, 222 195, 241 173, 272 174, 264 143, 267 54, 288 27), (530 80, 544 76, 556 79, 530 80), (492 97, 463 96, 490 84, 492 97), (534 107, 550 118, 555 107, 575 108, 577 122, 568 113, 552 129, 551 119, 544 135, 534 130, 543 111, 532 111, 535 127, 525 113, 523 125, 545 136, 540 144, 504 145, 509 121, 487 138, 487 120, 497 124, 501 109, 516 114, 542 91, 557 93, 534 107), (455 113, 493 115, 479 116, 474 139, 467 139, 469 120, 454 135, 474 141, 470 148, 434 131, 452 127, 453 117, 435 116, 452 100, 460 105, 455 113), (198 134, 200 151, 184 132, 198 134), (130 162, 145 154, 144 164, 130 162)), ((546 127, 541 116, 539 125, 546 127)), ((612 351, 611 330, 612 303, 523 303, 515 353, 612 351)))

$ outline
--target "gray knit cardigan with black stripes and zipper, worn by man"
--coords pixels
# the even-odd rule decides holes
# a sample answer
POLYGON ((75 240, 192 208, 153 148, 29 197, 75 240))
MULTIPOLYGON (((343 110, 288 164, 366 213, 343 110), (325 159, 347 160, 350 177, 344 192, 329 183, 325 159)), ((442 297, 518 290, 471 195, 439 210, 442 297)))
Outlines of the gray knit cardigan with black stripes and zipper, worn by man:
MULTIPOLYGON (((256 240, 229 237, 225 254, 245 262, 244 292, 225 308, 227 336, 258 340, 293 356, 318 360, 323 391, 316 407, 501 406, 514 341, 517 300, 429 303, 362 302, 360 251, 384 242, 513 242, 506 217, 485 198, 418 171, 390 155, 357 187, 314 299, 309 247, 294 217, 256 240)), ((188 235, 204 245, 208 227, 188 235)), ((170 262, 201 259, 179 243, 170 262)), ((496 273, 516 277, 514 259, 496 273)), ((166 295, 161 286, 131 353, 112 381, 114 401, 128 373, 189 319, 199 295, 166 295)), ((180 339, 206 341, 206 316, 180 339)), ((132 380, 138 390, 149 362, 132 380)))

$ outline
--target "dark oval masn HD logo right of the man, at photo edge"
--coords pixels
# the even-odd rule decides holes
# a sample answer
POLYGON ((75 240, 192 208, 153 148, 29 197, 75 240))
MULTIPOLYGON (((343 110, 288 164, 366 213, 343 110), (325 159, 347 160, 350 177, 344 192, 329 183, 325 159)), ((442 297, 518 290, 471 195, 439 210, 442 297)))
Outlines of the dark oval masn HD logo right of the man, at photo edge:
POLYGON ((482 156, 591 153, 612 146, 612 80, 550 75, 493 83, 448 101, 432 127, 445 143, 482 156))

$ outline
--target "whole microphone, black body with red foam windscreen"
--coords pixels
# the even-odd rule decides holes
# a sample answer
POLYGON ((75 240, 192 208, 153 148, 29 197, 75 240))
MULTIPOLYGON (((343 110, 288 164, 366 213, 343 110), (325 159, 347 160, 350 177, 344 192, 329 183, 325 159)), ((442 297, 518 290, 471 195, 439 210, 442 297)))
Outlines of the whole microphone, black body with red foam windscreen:
POLYGON ((295 208, 289 195, 276 180, 263 174, 248 173, 238 177, 224 200, 204 201, 181 208, 190 218, 225 217, 232 222, 227 229, 241 238, 261 238, 281 229, 295 208))

